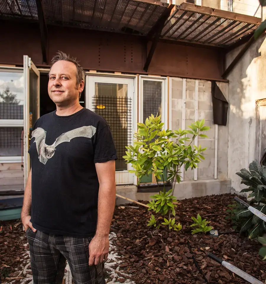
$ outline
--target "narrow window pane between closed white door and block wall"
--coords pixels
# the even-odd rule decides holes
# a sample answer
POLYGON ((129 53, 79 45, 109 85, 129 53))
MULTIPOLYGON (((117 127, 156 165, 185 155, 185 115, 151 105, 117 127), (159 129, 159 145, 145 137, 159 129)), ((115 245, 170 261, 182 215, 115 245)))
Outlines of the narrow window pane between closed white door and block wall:
POLYGON ((157 113, 162 114, 162 82, 143 80, 143 123, 157 113))

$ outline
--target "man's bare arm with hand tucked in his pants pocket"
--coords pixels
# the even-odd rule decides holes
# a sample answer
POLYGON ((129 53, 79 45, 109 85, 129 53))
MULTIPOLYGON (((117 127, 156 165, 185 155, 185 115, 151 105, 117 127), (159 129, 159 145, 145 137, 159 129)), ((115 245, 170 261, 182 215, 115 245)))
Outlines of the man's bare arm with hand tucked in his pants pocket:
POLYGON ((28 227, 31 227, 31 229, 36 232, 36 229, 33 228, 32 223, 30 222, 30 210, 31 210, 31 170, 28 175, 25 191, 24 191, 24 200, 23 200, 23 206, 21 210, 21 220, 22 224, 24 226, 25 231, 28 227))

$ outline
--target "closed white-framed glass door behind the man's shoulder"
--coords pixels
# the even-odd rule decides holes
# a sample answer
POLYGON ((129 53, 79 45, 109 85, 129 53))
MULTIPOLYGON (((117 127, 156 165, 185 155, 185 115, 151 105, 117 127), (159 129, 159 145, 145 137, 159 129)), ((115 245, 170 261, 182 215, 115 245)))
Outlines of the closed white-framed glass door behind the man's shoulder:
POLYGON ((86 78, 86 107, 100 114, 111 128, 117 150, 116 184, 133 184, 134 174, 123 156, 125 146, 133 144, 134 79, 90 76, 86 78))

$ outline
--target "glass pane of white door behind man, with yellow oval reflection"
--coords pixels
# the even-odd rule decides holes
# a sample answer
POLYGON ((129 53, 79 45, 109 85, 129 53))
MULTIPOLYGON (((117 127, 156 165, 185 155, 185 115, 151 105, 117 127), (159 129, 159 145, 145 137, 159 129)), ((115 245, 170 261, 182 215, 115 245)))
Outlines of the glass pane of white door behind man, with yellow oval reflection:
POLYGON ((94 112, 111 128, 118 156, 116 170, 127 169, 123 156, 131 138, 131 103, 127 84, 95 83, 94 112))

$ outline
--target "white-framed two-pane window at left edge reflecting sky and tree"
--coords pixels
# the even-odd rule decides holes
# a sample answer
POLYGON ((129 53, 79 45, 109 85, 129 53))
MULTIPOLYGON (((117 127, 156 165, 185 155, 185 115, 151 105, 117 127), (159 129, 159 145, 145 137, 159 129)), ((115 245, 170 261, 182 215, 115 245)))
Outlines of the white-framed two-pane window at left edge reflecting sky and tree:
POLYGON ((0 69, 0 161, 23 156, 24 78, 21 69, 0 69))

